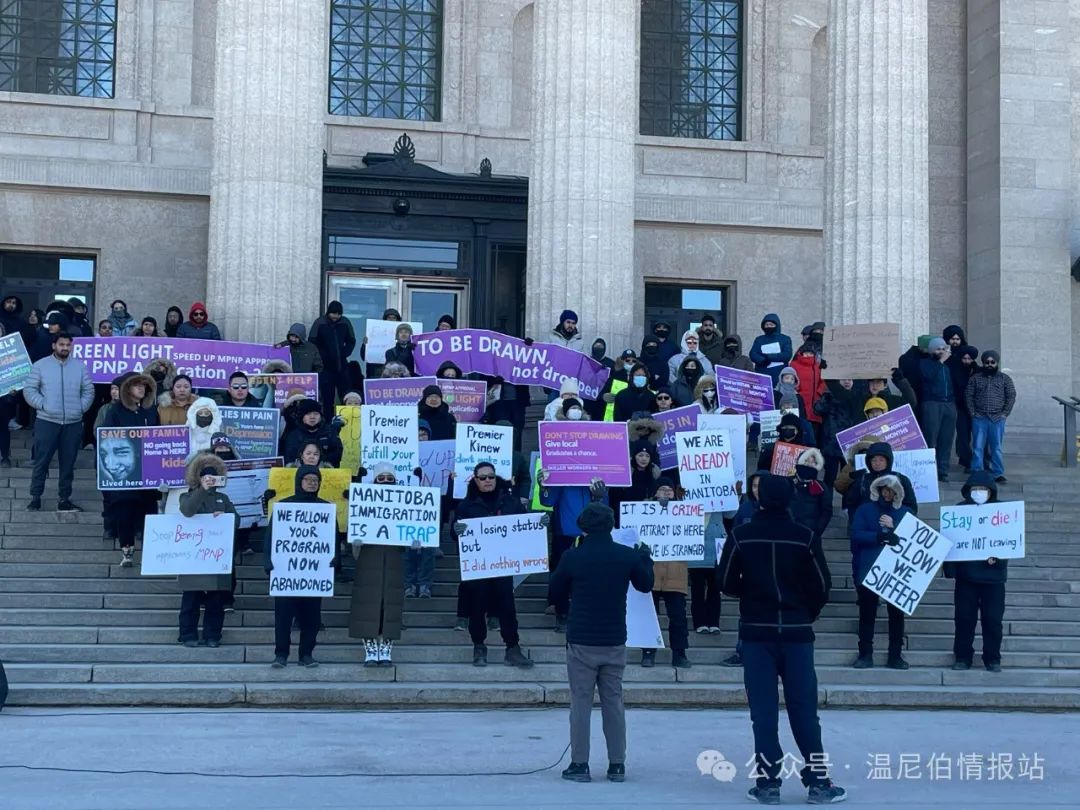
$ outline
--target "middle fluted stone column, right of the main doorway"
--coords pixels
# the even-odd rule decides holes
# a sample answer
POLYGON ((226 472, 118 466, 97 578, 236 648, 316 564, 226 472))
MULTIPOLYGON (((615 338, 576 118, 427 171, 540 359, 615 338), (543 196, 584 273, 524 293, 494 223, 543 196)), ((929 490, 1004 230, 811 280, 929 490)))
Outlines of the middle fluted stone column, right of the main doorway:
POLYGON ((637 10, 536 1, 526 328, 540 341, 571 309, 586 341, 603 337, 612 352, 639 342, 637 10))

